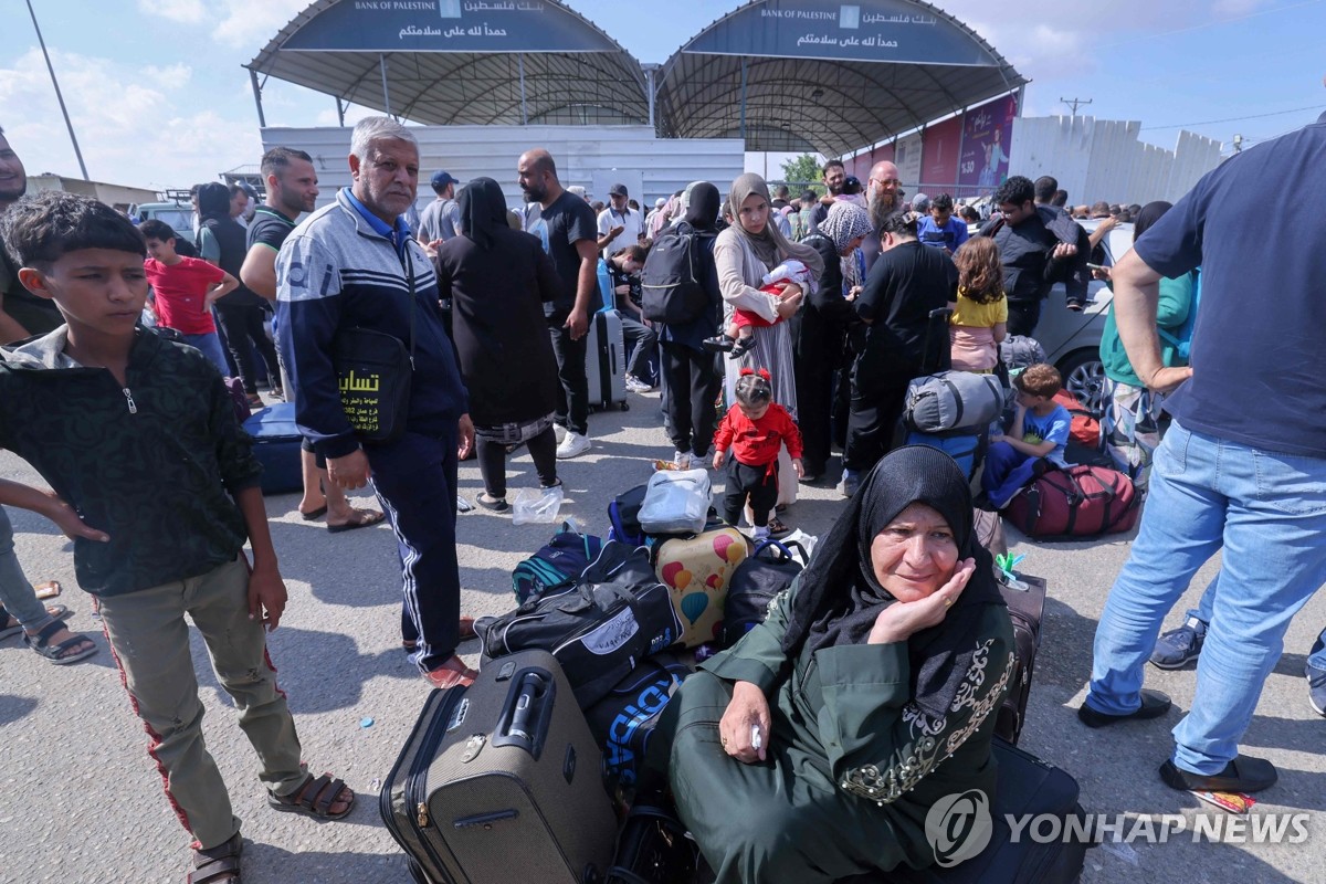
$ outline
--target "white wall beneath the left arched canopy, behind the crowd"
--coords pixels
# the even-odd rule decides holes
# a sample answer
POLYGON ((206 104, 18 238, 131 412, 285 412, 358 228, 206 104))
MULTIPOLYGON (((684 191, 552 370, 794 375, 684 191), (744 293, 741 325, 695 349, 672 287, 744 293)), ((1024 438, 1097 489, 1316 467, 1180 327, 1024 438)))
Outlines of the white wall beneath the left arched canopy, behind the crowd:
MULTIPOLYGON (((631 193, 648 211, 655 197, 671 196, 695 180, 713 182, 720 192, 744 171, 740 139, 659 139, 648 126, 411 126, 419 139, 420 208, 432 199, 428 179, 446 170, 461 182, 496 179, 512 208, 522 203, 516 162, 530 147, 546 147, 564 187, 590 188, 594 174, 607 170, 639 174, 643 195, 631 193)), ((350 183, 346 156, 350 129, 264 129, 263 150, 284 144, 308 151, 318 170, 322 205, 350 183)), ((622 175, 626 179, 626 175, 622 175)), ((631 175, 630 178, 634 178, 631 175)), ((607 193, 593 199, 607 201, 607 193)))

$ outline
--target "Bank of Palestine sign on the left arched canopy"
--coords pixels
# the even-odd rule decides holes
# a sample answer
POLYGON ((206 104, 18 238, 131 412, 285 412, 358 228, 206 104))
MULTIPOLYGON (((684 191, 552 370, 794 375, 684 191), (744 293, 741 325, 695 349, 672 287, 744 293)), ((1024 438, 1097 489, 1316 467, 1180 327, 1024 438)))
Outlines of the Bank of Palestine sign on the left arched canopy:
POLYGON ((294 52, 618 52, 546 0, 341 0, 294 32, 294 52))

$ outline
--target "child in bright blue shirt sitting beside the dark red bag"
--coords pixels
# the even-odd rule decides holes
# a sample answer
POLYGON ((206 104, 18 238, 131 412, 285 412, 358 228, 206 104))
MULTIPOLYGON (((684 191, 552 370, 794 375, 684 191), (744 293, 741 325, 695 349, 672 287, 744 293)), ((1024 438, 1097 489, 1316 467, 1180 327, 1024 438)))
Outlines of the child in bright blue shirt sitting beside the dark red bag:
MULTIPOLYGON (((1017 411, 1008 435, 991 436, 985 456, 981 488, 994 509, 1004 509, 1017 492, 1038 473, 1041 459, 1066 467, 1063 448, 1069 441, 1073 417, 1054 402, 1063 379, 1054 366, 1038 363, 1028 367, 1013 382, 1017 388, 1017 411)), ((1041 468, 1044 469, 1044 467, 1041 468)))

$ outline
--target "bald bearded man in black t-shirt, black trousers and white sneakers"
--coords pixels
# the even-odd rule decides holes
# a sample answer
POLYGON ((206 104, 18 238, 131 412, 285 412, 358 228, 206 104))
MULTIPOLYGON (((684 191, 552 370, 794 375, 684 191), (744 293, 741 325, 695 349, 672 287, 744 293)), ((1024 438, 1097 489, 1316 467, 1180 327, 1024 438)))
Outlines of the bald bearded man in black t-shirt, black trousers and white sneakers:
MULTIPOLYGON (((557 357, 557 456, 578 457, 589 451, 589 378, 585 374, 590 314, 603 306, 598 293, 598 219, 589 203, 569 193, 557 179, 557 164, 542 148, 521 154, 517 166, 526 203, 541 215, 530 233, 544 240, 561 278, 561 292, 544 305, 557 357)), ((516 368, 516 366, 513 366, 516 368)))

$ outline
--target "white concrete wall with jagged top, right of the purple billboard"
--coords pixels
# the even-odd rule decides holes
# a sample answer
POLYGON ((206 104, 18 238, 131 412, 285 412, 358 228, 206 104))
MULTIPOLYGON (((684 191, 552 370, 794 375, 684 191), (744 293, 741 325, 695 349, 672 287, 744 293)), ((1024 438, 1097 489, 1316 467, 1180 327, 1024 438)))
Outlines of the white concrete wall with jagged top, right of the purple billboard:
POLYGON ((1009 174, 1053 175, 1074 205, 1175 203, 1220 164, 1220 142, 1188 131, 1175 150, 1139 140, 1136 121, 1020 117, 1013 121, 1009 174))

